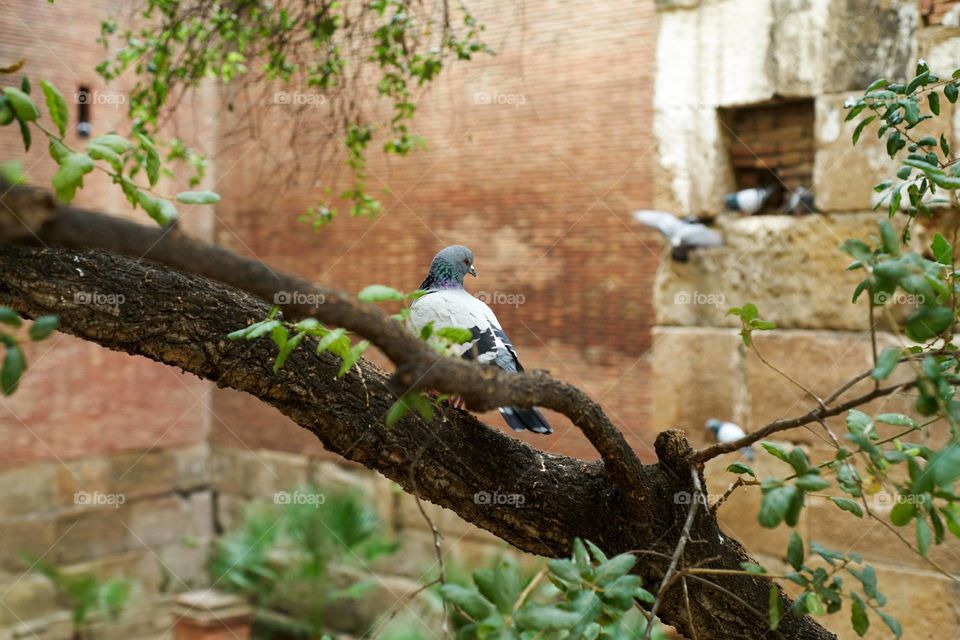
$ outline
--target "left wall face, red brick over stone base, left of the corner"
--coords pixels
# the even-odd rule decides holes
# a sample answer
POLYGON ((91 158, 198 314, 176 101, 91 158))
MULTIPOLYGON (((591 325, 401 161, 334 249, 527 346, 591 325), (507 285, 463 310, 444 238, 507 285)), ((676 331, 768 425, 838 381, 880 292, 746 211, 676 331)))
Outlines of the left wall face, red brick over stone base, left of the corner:
MULTIPOLYGON (((25 58, 23 73, 41 103, 37 79, 60 89, 70 110, 66 139, 75 147, 86 143, 76 133, 81 86, 91 91, 93 136, 129 130, 132 79, 105 83, 94 67, 105 55, 96 43, 100 21, 132 11, 132 3, 114 0, 10 0, 0 7, 0 65, 25 58)), ((171 125, 186 140, 212 144, 215 101, 204 88, 171 125)), ((38 136, 24 157, 16 127, 4 127, 0 149, 2 161, 23 158, 31 182, 50 184, 56 165, 38 136)), ((205 188, 211 185, 208 179, 205 188)), ((188 187, 177 175, 159 188, 188 187)), ((100 172, 85 177, 75 203, 150 223, 100 172)), ((211 237, 212 207, 182 213, 191 234, 211 237)), ((96 637, 159 637, 169 626, 157 604, 163 592, 205 580, 213 533, 206 465, 211 385, 60 333, 25 347, 29 368, 20 387, 0 398, 0 638, 70 637, 67 603, 48 580, 25 572, 20 552, 67 571, 137 578, 142 589, 129 624, 96 637)))

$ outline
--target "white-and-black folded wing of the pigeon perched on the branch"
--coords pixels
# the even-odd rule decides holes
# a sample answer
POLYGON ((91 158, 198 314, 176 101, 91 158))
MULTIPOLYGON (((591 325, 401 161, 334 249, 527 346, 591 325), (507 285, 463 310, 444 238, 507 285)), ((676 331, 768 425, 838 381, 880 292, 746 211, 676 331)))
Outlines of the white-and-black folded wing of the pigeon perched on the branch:
POLYGON ((454 346, 454 351, 464 358, 496 363, 500 352, 506 350, 497 336, 500 323, 493 311, 463 289, 428 291, 411 305, 409 324, 414 333, 431 322, 434 330, 458 327, 473 334, 469 342, 454 346))

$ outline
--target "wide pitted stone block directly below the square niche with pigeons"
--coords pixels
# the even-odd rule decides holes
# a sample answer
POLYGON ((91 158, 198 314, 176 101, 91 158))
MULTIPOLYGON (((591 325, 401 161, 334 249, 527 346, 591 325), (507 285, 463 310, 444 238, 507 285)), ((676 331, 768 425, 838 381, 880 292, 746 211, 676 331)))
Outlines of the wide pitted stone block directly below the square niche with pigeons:
POLYGON ((657 274, 661 325, 739 327, 730 307, 753 302, 780 328, 864 331, 867 300, 851 305, 862 271, 837 246, 877 235, 877 214, 720 216, 725 246, 692 252, 657 274), (816 268, 811 268, 816 265, 816 268))

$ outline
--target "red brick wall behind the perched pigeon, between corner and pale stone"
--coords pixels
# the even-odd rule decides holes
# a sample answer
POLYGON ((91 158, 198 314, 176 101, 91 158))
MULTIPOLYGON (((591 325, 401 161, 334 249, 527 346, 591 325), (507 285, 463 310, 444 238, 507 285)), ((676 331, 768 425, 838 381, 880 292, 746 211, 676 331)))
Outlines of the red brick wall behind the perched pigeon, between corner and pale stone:
MULTIPOLYGON (((585 388, 649 453, 647 353, 660 242, 628 216, 652 202, 653 3, 473 8, 498 55, 453 68, 429 91, 416 121, 427 150, 389 161, 374 154, 371 189, 392 189, 384 215, 342 214, 317 234, 298 223, 330 168, 307 160, 288 187, 271 176, 291 153, 312 157, 327 120, 317 109, 290 150, 292 120, 272 106, 260 110, 259 139, 218 159, 217 240, 352 291, 370 283, 412 290, 438 249, 466 244, 480 274, 468 282, 472 292, 522 296, 522 304, 492 306, 524 365, 585 388)), ((218 392, 212 437, 316 446, 253 404, 218 392)), ((557 435, 532 441, 594 457, 566 421, 551 419, 557 435)))

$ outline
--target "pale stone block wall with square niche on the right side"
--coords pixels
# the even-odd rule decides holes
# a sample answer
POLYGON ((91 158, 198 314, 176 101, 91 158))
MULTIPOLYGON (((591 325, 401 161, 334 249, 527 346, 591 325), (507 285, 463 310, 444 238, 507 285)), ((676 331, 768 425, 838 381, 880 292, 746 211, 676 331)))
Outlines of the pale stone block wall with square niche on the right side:
MULTIPOLYGON (((941 16, 955 3, 933 4, 930 22, 947 23, 941 16)), ((875 136, 865 135, 858 147, 851 146, 843 102, 877 77, 912 77, 918 57, 936 73, 949 74, 960 65, 960 32, 924 27, 923 7, 906 1, 664 0, 657 5, 656 206, 681 215, 719 214, 716 225, 725 246, 695 253, 687 264, 665 265, 657 274, 652 422, 655 429, 683 428, 693 441, 706 444, 708 418, 733 420, 750 431, 814 406, 805 392, 744 348, 738 319, 726 314, 729 307, 757 304, 762 317, 778 327, 755 335, 760 353, 821 397, 872 366, 868 305, 866 300, 850 304, 862 276, 844 271, 849 257, 837 247, 847 238, 877 234, 872 188, 892 177, 895 165, 875 136), (738 163, 752 157, 756 166, 776 168, 780 151, 778 132, 760 118, 748 128, 749 136, 736 136, 725 116, 745 106, 775 109, 798 100, 814 105, 813 132, 806 140, 812 146, 812 183, 803 186, 812 187, 820 213, 722 214, 721 196, 734 190, 738 163)), ((938 121, 946 123, 949 140, 957 139, 956 120, 954 115, 951 125, 947 114, 938 121)), ((919 239, 924 235, 921 229, 919 239)), ((894 309, 895 315, 908 311, 905 305, 894 309)), ((880 348, 895 344, 895 336, 880 328, 880 348)), ((861 384, 851 393, 866 388, 861 384)), ((893 396, 864 410, 909 413, 911 407, 912 398, 893 396)), ((844 431, 840 418, 827 426, 844 431)), ((828 436, 818 425, 784 437, 811 456, 832 457, 824 442, 828 436)), ((929 436, 933 442, 944 437, 929 436)), ((733 481, 724 467, 736 458, 709 465, 711 493, 722 494, 733 481)), ((779 464, 758 455, 755 469, 761 478, 783 475, 779 464)), ((892 504, 884 497, 876 498, 874 509, 886 515, 892 504)), ((762 528, 756 518, 759 502, 759 490, 738 490, 719 517, 725 530, 779 571, 789 531, 762 528)), ((889 598, 887 610, 904 623, 904 637, 960 633, 955 583, 893 532, 822 499, 811 500, 798 529, 829 548, 858 551, 877 568, 889 598)), ((932 550, 931 558, 960 573, 955 539, 932 550)), ((855 637, 849 612, 825 622, 842 638, 855 637)), ((885 630, 875 624, 868 637, 886 637, 885 630)))

